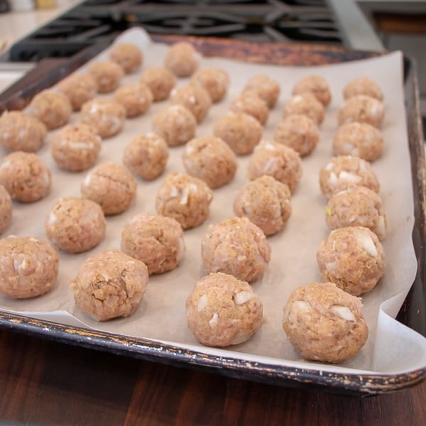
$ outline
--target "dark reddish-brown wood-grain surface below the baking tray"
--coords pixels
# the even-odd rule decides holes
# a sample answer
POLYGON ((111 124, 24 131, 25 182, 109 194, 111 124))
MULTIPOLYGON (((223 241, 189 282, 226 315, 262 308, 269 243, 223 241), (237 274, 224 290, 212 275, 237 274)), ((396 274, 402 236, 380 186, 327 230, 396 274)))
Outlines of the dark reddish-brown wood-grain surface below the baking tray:
POLYGON ((1 425, 410 425, 426 381, 364 398, 281 388, 0 330, 1 425))

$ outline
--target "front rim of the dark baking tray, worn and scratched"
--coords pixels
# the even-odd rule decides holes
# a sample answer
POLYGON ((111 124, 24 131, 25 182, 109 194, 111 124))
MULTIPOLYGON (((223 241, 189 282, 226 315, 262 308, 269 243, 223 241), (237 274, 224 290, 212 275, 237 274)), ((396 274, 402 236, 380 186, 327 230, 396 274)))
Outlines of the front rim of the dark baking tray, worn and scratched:
POLYGON ((261 383, 346 395, 375 395, 414 386, 426 378, 426 368, 403 374, 349 374, 251 362, 229 356, 212 356, 200 351, 182 349, 148 339, 133 339, 120 334, 96 332, 53 322, 34 320, 0 312, 0 327, 55 342, 74 344, 88 349, 109 351, 147 361, 174 366, 200 367, 224 376, 244 378, 261 383))

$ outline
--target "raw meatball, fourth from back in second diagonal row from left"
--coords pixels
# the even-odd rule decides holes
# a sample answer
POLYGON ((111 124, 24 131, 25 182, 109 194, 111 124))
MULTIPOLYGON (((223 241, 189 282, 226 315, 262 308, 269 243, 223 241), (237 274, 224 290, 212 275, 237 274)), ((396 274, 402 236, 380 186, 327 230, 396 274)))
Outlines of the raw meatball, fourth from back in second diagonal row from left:
POLYGON ((102 138, 109 138, 123 129, 126 109, 116 101, 93 99, 83 105, 80 121, 92 126, 102 138))

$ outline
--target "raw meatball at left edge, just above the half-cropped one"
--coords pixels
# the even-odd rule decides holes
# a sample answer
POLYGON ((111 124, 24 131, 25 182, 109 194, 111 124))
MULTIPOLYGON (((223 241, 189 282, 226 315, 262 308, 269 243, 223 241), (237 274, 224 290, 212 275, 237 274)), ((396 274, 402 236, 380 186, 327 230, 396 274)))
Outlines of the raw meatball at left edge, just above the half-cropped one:
POLYGON ((16 151, 0 164, 0 184, 13 200, 34 202, 49 194, 52 175, 37 155, 16 151))

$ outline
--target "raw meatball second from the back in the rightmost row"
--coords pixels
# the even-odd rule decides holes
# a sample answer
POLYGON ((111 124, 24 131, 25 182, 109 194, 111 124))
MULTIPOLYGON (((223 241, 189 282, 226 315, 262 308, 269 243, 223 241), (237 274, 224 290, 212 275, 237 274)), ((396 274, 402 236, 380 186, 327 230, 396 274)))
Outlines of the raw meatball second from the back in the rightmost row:
POLYGON ((380 128, 385 108, 376 98, 359 94, 350 97, 339 111, 339 125, 359 121, 380 128))

